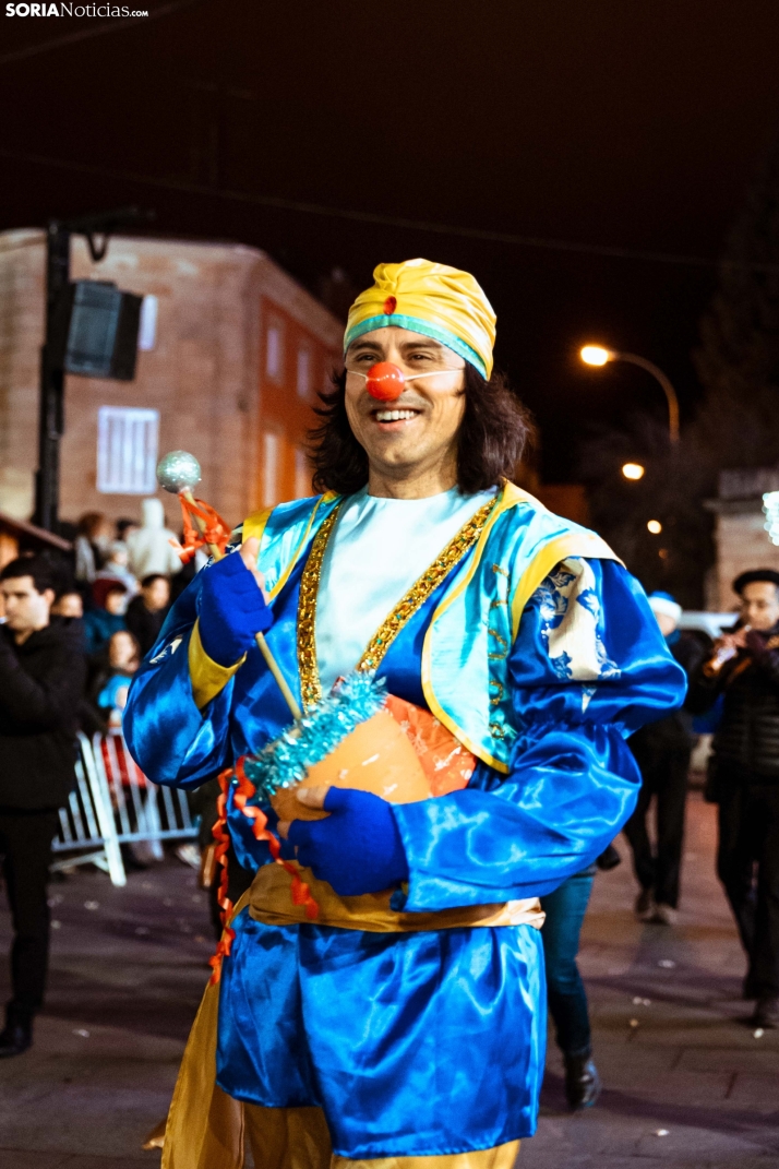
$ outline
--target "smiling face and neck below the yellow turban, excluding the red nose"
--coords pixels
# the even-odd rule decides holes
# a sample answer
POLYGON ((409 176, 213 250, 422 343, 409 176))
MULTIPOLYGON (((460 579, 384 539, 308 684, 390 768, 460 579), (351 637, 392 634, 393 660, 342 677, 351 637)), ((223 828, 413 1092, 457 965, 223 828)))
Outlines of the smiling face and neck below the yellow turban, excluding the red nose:
POLYGON ((453 487, 465 413, 464 359, 430 337, 391 326, 353 341, 346 368, 346 411, 368 455, 369 492, 413 499, 453 487), (378 361, 413 378, 395 402, 371 397, 360 376, 378 361))

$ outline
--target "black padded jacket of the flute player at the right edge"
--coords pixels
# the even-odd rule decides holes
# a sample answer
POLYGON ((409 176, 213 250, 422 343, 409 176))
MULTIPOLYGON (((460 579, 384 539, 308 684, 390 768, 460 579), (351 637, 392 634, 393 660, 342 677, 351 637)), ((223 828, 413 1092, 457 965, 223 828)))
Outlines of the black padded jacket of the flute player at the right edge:
POLYGON ((746 773, 779 783, 779 625, 765 634, 751 630, 747 646, 707 677, 702 665, 690 687, 690 707, 704 714, 724 694, 714 736, 718 775, 746 773))

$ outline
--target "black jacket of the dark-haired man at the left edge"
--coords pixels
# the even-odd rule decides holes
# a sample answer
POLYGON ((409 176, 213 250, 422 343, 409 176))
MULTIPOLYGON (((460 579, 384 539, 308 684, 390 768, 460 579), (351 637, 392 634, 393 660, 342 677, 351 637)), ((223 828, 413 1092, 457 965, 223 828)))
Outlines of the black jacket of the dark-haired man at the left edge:
POLYGON ((0 627, 0 807, 61 808, 75 783, 86 665, 81 630, 51 620, 16 645, 0 627))

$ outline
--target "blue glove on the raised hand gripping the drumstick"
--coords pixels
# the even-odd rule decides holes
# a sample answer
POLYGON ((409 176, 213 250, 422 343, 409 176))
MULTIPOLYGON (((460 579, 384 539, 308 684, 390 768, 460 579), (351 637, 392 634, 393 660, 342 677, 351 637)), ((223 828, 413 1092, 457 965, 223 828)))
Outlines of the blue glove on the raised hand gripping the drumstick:
POLYGON ((234 665, 273 624, 257 581, 237 552, 203 569, 200 639, 213 662, 234 665))

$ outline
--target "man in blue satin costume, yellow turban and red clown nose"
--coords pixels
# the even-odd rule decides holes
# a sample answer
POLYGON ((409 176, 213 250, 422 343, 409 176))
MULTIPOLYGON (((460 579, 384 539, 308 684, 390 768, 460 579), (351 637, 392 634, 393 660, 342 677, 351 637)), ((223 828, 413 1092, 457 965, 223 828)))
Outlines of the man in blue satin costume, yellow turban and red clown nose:
POLYGON ((264 630, 305 708, 371 670, 477 766, 415 803, 301 795, 327 818, 277 831, 315 922, 230 789, 257 877, 193 1029, 167 1169, 236 1169, 244 1130, 269 1169, 510 1169, 543 1074, 537 898, 621 829, 640 782, 625 739, 684 694, 620 561, 510 483, 527 426, 477 282, 423 260, 374 275, 315 436, 324 493, 250 517, 195 579, 125 733, 183 788, 278 739, 264 630))

